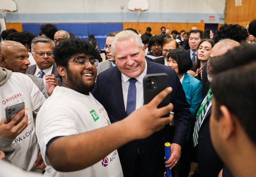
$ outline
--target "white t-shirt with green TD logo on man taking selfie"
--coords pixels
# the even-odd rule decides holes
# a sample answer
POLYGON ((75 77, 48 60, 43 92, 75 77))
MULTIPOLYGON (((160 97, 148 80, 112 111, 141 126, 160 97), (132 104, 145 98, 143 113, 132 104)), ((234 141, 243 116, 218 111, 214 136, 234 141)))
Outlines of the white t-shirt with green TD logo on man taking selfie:
POLYGON ((91 93, 83 95, 72 89, 56 86, 51 97, 40 108, 36 121, 36 135, 43 160, 47 165, 45 174, 58 177, 122 177, 123 171, 117 150, 91 167, 65 173, 56 171, 45 154, 47 143, 54 137, 80 134, 109 124, 106 110, 91 93))

